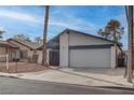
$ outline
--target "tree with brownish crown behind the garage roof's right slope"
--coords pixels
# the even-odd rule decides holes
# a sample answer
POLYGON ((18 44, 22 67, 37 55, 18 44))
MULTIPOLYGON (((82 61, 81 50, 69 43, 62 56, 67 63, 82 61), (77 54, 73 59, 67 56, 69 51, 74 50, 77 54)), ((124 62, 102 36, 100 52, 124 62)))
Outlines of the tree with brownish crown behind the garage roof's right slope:
POLYGON ((121 35, 124 33, 124 28, 121 27, 121 24, 119 20, 111 19, 107 23, 105 29, 99 29, 98 34, 108 39, 112 40, 115 42, 115 48, 116 48, 116 67, 117 67, 117 45, 118 42, 121 40, 121 35))

